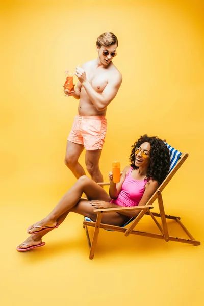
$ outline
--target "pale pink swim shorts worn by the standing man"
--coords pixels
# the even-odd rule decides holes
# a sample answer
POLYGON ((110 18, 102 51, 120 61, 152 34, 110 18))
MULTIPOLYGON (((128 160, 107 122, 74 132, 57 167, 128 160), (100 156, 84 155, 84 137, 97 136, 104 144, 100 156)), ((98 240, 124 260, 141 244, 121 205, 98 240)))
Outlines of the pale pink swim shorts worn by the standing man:
POLYGON ((83 144, 86 150, 102 149, 107 132, 105 116, 80 116, 74 118, 68 140, 83 144))

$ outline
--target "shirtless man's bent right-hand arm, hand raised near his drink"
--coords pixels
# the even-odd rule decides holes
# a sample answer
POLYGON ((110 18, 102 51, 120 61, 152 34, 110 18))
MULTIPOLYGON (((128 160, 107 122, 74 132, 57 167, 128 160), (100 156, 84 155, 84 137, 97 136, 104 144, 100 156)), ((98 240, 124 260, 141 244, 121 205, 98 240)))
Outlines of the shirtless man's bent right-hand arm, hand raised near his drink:
POLYGON ((79 81, 86 90, 87 95, 98 111, 102 111, 109 105, 109 103, 111 103, 122 83, 122 75, 118 72, 117 75, 114 75, 113 78, 108 80, 108 84, 100 94, 93 89, 86 78, 86 72, 82 68, 78 68, 75 75, 77 75, 79 81))

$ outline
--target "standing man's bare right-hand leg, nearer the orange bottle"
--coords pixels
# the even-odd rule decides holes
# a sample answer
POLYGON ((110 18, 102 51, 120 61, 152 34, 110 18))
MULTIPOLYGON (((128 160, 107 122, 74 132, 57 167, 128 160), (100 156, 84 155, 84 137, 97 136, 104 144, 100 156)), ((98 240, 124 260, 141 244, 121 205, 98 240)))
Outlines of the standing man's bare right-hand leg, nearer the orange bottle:
POLYGON ((95 182, 103 182, 103 175, 99 170, 99 159, 102 150, 86 150, 86 168, 95 182))

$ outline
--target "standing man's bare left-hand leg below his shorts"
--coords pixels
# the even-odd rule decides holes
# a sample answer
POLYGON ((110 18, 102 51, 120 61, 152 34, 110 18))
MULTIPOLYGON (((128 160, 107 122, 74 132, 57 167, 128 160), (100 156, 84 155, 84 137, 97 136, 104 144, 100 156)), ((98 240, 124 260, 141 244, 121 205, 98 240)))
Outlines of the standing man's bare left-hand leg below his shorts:
POLYGON ((67 140, 65 165, 71 170, 73 175, 79 179, 80 176, 86 175, 83 167, 78 162, 78 159, 84 149, 82 144, 74 143, 67 140))

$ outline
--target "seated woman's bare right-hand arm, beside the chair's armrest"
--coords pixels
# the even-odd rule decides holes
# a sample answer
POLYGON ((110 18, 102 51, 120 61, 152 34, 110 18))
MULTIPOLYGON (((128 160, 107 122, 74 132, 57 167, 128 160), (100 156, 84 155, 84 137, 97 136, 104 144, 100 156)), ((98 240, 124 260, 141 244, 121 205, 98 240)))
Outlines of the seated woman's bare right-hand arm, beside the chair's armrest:
MULTIPOLYGON (((144 194, 138 204, 138 206, 144 206, 148 202, 148 200, 152 197, 152 195, 155 193, 155 191, 158 189, 159 183, 157 181, 150 180, 149 183, 145 185, 145 191, 144 194)), ((139 214, 140 210, 138 211, 130 211, 130 212, 119 212, 119 214, 134 217, 136 218, 139 214)))

